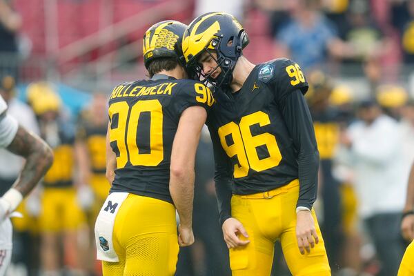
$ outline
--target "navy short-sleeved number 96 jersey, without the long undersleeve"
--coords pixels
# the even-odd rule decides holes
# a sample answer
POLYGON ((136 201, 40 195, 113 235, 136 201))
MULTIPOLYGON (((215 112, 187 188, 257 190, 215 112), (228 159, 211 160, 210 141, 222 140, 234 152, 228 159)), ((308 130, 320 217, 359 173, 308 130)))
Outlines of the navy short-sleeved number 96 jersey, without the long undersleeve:
POLYGON ((275 59, 255 66, 238 92, 215 91, 207 124, 216 180, 230 168, 234 194, 264 192, 298 178, 297 149, 281 112, 281 99, 293 90, 308 90, 302 70, 289 59, 275 59))

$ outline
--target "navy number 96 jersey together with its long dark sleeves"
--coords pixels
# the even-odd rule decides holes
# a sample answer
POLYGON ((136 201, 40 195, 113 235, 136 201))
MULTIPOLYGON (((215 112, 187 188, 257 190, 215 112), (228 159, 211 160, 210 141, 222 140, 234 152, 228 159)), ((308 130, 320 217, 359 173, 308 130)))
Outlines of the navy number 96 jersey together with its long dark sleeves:
POLYGON ((299 179, 298 204, 312 207, 318 153, 303 96, 307 90, 297 63, 275 59, 255 66, 241 90, 215 92, 217 103, 207 124, 215 148, 216 186, 230 179, 233 194, 249 195, 299 179), (304 170, 308 161, 313 166, 304 170))

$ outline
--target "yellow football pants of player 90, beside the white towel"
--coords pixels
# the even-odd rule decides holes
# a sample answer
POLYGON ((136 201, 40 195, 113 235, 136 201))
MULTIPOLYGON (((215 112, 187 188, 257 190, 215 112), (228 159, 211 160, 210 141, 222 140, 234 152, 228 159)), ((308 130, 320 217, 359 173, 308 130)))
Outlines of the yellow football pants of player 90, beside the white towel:
POLYGON ((115 218, 112 239, 119 262, 102 262, 103 276, 174 275, 179 247, 172 204, 128 195, 115 218))

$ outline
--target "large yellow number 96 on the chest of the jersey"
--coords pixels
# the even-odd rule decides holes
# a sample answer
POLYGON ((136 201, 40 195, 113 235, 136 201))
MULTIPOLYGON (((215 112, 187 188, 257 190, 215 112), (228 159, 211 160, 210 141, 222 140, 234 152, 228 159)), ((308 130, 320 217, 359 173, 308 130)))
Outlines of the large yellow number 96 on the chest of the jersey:
POLYGON ((275 135, 265 132, 253 136, 250 132, 250 126, 255 124, 259 124, 261 127, 270 124, 269 116, 262 111, 257 111, 242 117, 239 125, 232 121, 221 126, 218 130, 221 146, 228 157, 237 155, 239 164, 235 164, 234 167, 233 175, 235 178, 246 177, 249 168, 260 172, 279 165, 282 160, 275 135), (226 142, 228 135, 233 138, 233 144, 230 146, 226 142), (256 150, 259 146, 266 146, 269 157, 259 159, 256 150))

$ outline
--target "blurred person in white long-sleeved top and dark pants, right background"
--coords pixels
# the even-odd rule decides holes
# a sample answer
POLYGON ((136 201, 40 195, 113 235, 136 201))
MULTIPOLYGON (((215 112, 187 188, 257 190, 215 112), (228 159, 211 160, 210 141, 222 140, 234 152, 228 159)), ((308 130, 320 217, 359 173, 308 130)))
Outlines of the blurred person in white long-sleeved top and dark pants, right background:
POLYGON ((406 197, 400 128, 373 100, 359 105, 358 117, 341 142, 355 173, 359 215, 382 263, 380 275, 396 275, 404 253, 400 219, 406 197))

